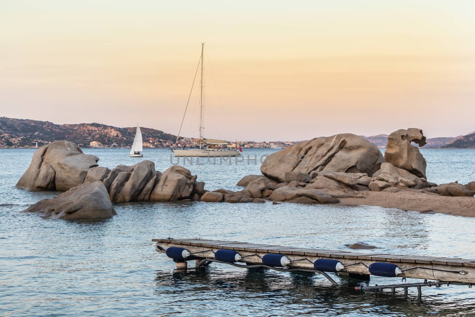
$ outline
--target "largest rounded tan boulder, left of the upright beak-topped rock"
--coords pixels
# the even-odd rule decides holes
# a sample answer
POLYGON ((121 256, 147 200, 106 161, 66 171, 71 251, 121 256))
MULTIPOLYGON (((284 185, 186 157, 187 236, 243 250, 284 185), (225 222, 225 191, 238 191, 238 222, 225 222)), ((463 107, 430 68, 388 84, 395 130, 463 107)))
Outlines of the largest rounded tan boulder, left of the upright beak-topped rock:
POLYGON ((279 183, 285 182, 285 172, 372 175, 383 162, 376 145, 355 134, 336 134, 294 144, 269 155, 261 166, 261 173, 279 183))

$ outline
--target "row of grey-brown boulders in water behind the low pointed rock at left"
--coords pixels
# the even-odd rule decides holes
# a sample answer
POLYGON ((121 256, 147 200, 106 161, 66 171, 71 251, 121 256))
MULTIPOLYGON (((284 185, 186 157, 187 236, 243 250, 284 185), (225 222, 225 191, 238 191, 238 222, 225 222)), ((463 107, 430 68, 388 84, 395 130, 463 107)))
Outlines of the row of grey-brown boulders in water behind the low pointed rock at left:
MULTIPOLYGON (((97 166, 94 155, 83 154, 68 141, 40 147, 16 187, 28 190, 69 190, 82 183, 101 182, 112 202, 175 201, 197 198, 204 193, 203 182, 182 166, 172 166, 163 174, 152 161, 133 166, 117 165, 112 170, 97 166)), ((270 181, 270 180, 269 180, 270 181)))

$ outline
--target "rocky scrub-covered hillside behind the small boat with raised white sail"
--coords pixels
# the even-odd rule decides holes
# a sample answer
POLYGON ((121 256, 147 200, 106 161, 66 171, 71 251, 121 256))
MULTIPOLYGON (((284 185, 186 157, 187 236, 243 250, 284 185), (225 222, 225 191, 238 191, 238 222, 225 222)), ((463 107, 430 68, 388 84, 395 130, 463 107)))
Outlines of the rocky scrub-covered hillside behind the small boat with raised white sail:
MULTIPOLYGON (((164 144, 175 142, 176 135, 161 130, 141 128, 144 142, 164 144)), ((68 140, 76 144, 89 145, 91 141, 117 146, 130 146, 135 127, 118 128, 98 123, 77 125, 55 125, 49 121, 13 119, 0 117, 0 147, 33 147, 57 140, 68 140)))

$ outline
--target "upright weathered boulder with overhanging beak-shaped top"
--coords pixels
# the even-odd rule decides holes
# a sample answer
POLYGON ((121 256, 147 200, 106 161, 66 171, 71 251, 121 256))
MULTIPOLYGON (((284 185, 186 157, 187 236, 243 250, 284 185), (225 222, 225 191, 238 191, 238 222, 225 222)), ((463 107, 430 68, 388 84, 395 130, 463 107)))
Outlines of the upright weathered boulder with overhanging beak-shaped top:
POLYGON ((419 147, 426 144, 426 137, 421 129, 400 129, 388 136, 388 144, 384 152, 384 161, 410 173, 426 178, 427 162, 419 149, 411 145, 414 142, 419 147))

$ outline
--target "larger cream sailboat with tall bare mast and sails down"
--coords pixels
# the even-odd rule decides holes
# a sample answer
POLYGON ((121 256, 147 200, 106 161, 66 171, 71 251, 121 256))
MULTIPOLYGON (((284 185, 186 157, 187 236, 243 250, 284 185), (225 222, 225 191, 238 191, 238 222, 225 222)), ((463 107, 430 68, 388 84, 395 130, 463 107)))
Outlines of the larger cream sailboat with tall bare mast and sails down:
MULTIPOLYGON (((217 140, 217 139, 206 139, 203 136, 203 87, 204 87, 204 82, 203 82, 203 71, 204 71, 204 66, 203 66, 203 60, 204 60, 204 53, 203 53, 203 48, 204 48, 204 43, 201 43, 201 57, 200 57, 200 62, 201 62, 201 81, 200 81, 200 101, 199 101, 199 149, 171 149, 173 154, 175 156, 239 156, 241 155, 239 153, 239 150, 236 147, 228 146, 228 142, 225 140, 217 140), (218 146, 226 146, 227 148, 219 148, 218 146)), ((191 93, 190 93, 191 94, 191 93)), ((187 105, 188 107, 188 105, 187 105)), ((185 109, 185 114, 183 115, 183 119, 186 115, 186 109, 185 109)), ((183 120, 181 120, 181 124, 183 125, 183 120)), ((175 144, 178 142, 178 138, 180 137, 180 132, 181 132, 181 126, 180 126, 180 131, 178 132, 177 140, 175 144)))

